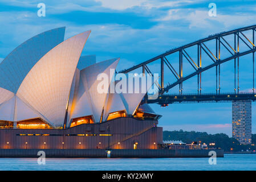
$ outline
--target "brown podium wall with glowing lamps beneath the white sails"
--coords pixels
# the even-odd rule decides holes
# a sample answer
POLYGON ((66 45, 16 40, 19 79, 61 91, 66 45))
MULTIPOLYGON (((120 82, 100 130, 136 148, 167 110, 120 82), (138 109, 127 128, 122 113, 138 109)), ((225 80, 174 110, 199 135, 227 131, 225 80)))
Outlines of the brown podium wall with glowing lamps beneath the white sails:
POLYGON ((156 120, 116 118, 68 129, 0 129, 0 149, 156 149, 162 127, 156 120), (108 130, 109 129, 109 130, 108 130))

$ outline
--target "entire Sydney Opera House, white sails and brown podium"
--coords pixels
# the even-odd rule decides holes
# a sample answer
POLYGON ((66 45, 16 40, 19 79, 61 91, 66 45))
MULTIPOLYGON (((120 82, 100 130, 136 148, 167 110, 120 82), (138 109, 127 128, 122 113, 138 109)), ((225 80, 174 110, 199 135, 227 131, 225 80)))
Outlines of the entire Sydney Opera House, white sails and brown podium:
POLYGON ((64 33, 36 35, 0 63, 0 148, 157 148, 161 115, 141 104, 145 93, 97 92, 119 59, 81 56, 91 31, 64 33))

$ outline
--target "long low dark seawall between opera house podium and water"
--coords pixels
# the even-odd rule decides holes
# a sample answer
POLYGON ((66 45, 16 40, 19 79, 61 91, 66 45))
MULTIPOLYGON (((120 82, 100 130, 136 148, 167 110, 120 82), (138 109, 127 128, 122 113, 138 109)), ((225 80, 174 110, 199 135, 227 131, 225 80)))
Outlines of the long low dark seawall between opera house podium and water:
MULTIPOLYGON (((0 158, 38 158, 38 151, 46 158, 107 158, 104 149, 0 149, 0 158)), ((111 158, 209 158, 210 151, 224 157, 224 150, 113 149, 111 158)))

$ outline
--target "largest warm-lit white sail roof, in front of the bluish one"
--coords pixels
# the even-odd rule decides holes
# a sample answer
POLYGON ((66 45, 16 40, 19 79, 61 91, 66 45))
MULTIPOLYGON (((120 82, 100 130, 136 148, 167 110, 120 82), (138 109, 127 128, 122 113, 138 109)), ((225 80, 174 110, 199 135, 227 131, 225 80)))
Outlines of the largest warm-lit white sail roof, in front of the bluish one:
POLYGON ((17 96, 53 126, 63 126, 76 66, 90 32, 73 36, 51 49, 18 89, 17 96))

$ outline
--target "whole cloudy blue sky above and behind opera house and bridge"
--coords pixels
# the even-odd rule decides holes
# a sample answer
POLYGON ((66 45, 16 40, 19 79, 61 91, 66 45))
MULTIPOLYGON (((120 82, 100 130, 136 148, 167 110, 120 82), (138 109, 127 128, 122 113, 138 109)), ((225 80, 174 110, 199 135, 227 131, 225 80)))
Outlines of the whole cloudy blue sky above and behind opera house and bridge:
MULTIPOLYGON (((255 1, 1 0, 0 61, 32 36, 66 26, 66 38, 92 30, 82 55, 94 54, 97 61, 120 57, 117 69, 121 70, 208 35, 256 24, 255 12, 255 1), (208 15, 208 5, 212 2, 217 5, 216 17, 208 15), (45 3, 46 17, 37 16, 38 3, 45 3)), ((243 58, 243 61, 247 60, 250 57, 243 58)), ((223 66, 224 92, 233 90, 231 65, 233 63, 223 66)), ((151 65, 151 68, 155 66, 151 65)), ((250 64, 244 64, 241 68, 242 90, 250 91, 251 81, 247 79, 250 74, 250 64)), ((214 92, 210 86, 215 83, 211 75, 211 71, 204 75, 203 92, 214 92)), ((184 84, 184 92, 194 91, 190 89, 193 82, 195 80, 192 79, 188 85, 184 84)), ((152 107, 163 115, 159 123, 164 130, 183 129, 231 135, 231 103, 152 107)), ((255 104, 253 133, 256 132, 254 109, 255 104)))

